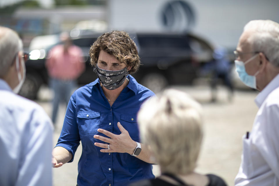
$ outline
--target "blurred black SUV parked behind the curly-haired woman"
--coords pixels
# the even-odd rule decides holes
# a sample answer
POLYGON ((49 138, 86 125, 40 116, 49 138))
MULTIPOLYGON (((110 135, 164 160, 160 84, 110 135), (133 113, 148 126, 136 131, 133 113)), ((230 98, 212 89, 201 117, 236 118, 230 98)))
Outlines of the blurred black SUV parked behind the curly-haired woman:
MULTIPOLYGON (((97 78, 89 63, 89 48, 100 35, 84 34, 72 38, 73 43, 81 47, 84 58, 87 59, 86 70, 78 78, 79 85, 85 85, 97 78)), ((154 92, 160 91, 167 85, 191 84, 197 77, 198 69, 212 60, 211 45, 193 34, 130 33, 129 35, 138 47, 142 62, 139 71, 132 76, 154 92)), ((45 50, 46 53, 52 47, 53 45, 49 46, 45 50)), ((26 80, 19 94, 29 99, 36 99, 40 86, 48 84, 45 60, 44 57, 26 62, 26 80)))

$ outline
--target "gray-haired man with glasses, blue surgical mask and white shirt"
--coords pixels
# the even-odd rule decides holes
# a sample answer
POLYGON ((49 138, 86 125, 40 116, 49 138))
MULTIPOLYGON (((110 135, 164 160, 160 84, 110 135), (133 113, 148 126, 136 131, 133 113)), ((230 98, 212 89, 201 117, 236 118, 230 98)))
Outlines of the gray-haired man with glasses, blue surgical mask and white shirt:
POLYGON ((248 22, 234 53, 241 81, 260 91, 253 128, 243 136, 235 185, 279 185, 279 24, 248 22))

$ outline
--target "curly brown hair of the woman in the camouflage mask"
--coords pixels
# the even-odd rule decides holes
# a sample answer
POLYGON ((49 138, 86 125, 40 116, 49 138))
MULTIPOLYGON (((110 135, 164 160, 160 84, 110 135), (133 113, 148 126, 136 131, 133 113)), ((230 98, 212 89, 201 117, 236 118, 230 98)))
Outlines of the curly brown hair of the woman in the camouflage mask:
POLYGON ((117 60, 125 62, 127 67, 130 66, 129 74, 135 73, 141 65, 137 46, 124 31, 104 33, 93 43, 89 50, 92 66, 96 66, 101 50, 115 56, 117 60))

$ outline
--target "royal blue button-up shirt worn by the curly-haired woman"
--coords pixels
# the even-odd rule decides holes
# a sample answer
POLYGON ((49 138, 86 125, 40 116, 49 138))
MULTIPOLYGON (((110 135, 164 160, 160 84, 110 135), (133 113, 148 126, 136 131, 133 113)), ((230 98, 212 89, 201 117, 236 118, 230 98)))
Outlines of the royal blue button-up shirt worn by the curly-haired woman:
MULTIPOLYGON (((146 87, 137 83, 128 75, 128 85, 122 90, 110 106, 100 86, 99 79, 74 92, 69 101, 63 128, 56 146, 74 154, 82 143, 82 154, 78 162, 79 186, 123 186, 144 178, 154 178, 152 165, 128 153, 102 153, 102 148, 94 143, 105 143, 95 139, 102 135, 97 131, 102 128, 119 135, 117 122, 129 132, 130 137, 140 142, 137 127, 137 112, 142 103, 153 96, 146 87)), ((72 162, 70 160, 69 162, 72 162)))

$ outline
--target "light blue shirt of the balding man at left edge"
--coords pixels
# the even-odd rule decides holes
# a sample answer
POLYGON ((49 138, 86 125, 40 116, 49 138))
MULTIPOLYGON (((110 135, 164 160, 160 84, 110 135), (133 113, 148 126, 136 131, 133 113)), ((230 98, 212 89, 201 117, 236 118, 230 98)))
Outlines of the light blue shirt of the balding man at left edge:
POLYGON ((42 107, 0 79, 0 185, 52 185, 52 135, 42 107))

